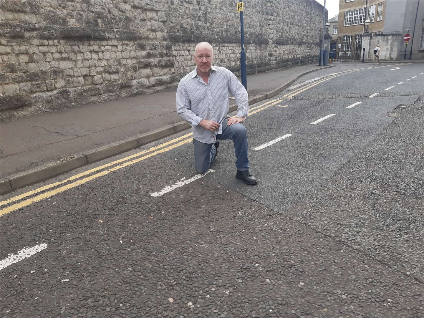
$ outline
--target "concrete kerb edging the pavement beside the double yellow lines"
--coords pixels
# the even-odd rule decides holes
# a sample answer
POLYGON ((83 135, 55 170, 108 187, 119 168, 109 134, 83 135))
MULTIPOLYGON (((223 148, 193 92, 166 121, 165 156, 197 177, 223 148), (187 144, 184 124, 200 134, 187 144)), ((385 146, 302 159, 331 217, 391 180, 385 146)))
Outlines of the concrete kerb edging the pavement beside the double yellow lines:
MULTIPOLYGON (((324 70, 326 68, 333 67, 333 66, 334 65, 328 65, 327 67, 322 67, 319 70, 324 70)), ((250 98, 249 105, 259 103, 262 100, 265 100, 277 95, 283 89, 287 88, 290 84, 297 81, 298 78, 300 78, 302 75, 312 73, 314 71, 316 70, 310 70, 308 72, 301 73, 298 76, 296 76, 296 78, 293 78, 292 80, 290 80, 288 83, 285 83, 284 85, 279 86, 276 89, 273 89, 271 92, 268 92, 267 94, 262 94, 262 95, 258 95, 253 98, 250 98)), ((236 109, 237 109, 237 105, 233 105, 230 107, 229 112, 234 112, 236 109)), ((190 128, 190 125, 184 121, 181 121, 173 125, 168 125, 168 126, 159 128, 155 131, 150 131, 148 133, 141 134, 136 137, 132 137, 130 139, 112 142, 103 147, 95 148, 86 153, 82 153, 81 155, 77 155, 74 158, 64 162, 55 162, 55 163, 50 163, 47 165, 42 165, 40 167, 22 171, 12 176, 1 178, 0 179, 0 195, 6 194, 13 190, 20 189, 22 187, 29 186, 31 184, 36 184, 40 181, 47 180, 55 176, 59 176, 63 173, 67 173, 71 170, 82 167, 84 165, 88 165, 90 163, 97 162, 102 159, 106 159, 112 156, 116 156, 120 153, 133 150, 135 148, 146 145, 150 142, 168 137, 180 131, 184 131, 188 128, 190 128)))

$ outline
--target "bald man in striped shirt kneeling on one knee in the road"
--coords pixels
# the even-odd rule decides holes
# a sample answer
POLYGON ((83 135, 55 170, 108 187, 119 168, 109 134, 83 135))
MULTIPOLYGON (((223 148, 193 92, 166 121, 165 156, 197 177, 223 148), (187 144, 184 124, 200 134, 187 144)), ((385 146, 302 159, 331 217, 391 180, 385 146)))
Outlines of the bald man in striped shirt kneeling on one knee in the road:
POLYGON ((232 139, 237 157, 236 178, 257 184, 249 173, 247 131, 248 95, 237 77, 224 67, 212 66, 213 49, 208 42, 195 47, 195 70, 178 84, 177 113, 192 126, 194 159, 198 173, 205 173, 218 155, 218 139, 232 139), (235 97, 237 116, 229 117, 229 95, 235 97))

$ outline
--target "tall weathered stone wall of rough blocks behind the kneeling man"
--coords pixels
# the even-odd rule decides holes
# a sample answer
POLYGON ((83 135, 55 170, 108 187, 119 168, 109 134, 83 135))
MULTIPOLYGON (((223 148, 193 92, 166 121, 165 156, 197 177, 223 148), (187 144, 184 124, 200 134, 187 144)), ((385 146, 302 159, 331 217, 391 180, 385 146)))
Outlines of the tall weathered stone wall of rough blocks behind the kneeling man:
MULTIPOLYGON (((238 74, 240 18, 226 0, 0 0, 0 118, 176 86, 209 41, 238 74)), ((315 61, 323 7, 248 0, 248 73, 315 61)))

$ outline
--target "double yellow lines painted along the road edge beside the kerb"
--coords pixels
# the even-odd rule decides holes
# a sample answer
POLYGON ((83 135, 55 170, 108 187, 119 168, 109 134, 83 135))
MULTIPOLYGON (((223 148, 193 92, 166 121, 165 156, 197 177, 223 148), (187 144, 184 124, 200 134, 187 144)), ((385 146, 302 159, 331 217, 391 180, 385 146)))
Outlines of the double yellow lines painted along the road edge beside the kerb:
MULTIPOLYGON (((374 68, 374 67, 368 67, 368 68, 374 68)), ((364 70, 364 69, 359 69, 359 70, 364 70)), ((357 70, 353 70, 353 71, 357 71, 357 70)), ((326 79, 324 79, 322 81, 313 82, 312 84, 309 84, 307 86, 301 87, 299 89, 296 89, 293 92, 290 92, 289 94, 286 94, 286 95, 282 96, 282 98, 285 98, 285 97, 290 97, 291 98, 291 97, 293 97, 293 96, 295 96, 295 95, 303 92, 306 89, 310 89, 311 87, 313 87, 315 85, 318 85, 318 84, 320 84, 320 83, 322 83, 324 81, 328 81, 329 79, 335 78, 335 77, 340 76, 340 75, 343 75, 343 74, 345 74, 345 73, 342 73, 342 74, 339 74, 339 75, 335 75, 335 76, 332 76, 330 78, 326 78, 326 79)), ((267 109, 268 107, 271 107, 271 106, 279 103, 282 98, 276 98, 276 99, 273 99, 273 100, 269 100, 268 102, 263 103, 263 104, 261 104, 259 106, 252 107, 251 109, 249 109, 249 111, 253 110, 253 112, 250 112, 249 116, 250 115, 253 115, 253 114, 256 114, 257 112, 260 112, 260 111, 262 111, 264 109, 267 109)), ((185 134, 185 135, 183 135, 181 137, 175 138, 173 140, 170 140, 170 141, 165 142, 163 144, 160 144, 158 146, 152 147, 152 148, 150 148, 148 150, 140 151, 140 152, 135 153, 135 154, 133 154, 131 156, 127 156, 125 158, 122 158, 122 159, 119 159, 119 160, 116 160, 116 161, 107 163, 105 165, 101 165, 99 167, 95 167, 93 169, 86 170, 86 171, 84 171, 82 173, 78 173, 78 174, 76 174, 74 176, 71 176, 71 177, 69 177, 67 179, 64 179, 62 181, 58 181, 58 182, 55 182, 55 183, 52 183, 52 184, 47 184, 47 185, 45 185, 43 187, 40 187, 40 188, 37 188, 35 190, 25 192, 25 193, 23 193, 21 195, 17 195, 15 197, 10 198, 10 199, 7 199, 5 201, 1 201, 0 202, 0 206, 4 206, 4 205, 7 205, 7 204, 11 204, 13 202, 20 201, 22 199, 31 197, 33 195, 36 195, 39 192, 43 192, 45 190, 49 190, 49 189, 54 188, 54 189, 49 190, 47 192, 44 192, 42 194, 33 196, 32 198, 28 198, 28 199, 23 200, 23 201, 21 201, 19 203, 15 203, 15 204, 6 206, 3 209, 0 209, 0 216, 1 215, 4 215, 6 213, 12 212, 12 211, 16 211, 17 209, 20 209, 22 207, 28 206, 30 204, 39 202, 39 201, 41 201, 41 200, 43 200, 45 198, 48 198, 50 196, 53 196, 55 194, 58 194, 58 193, 61 193, 61 192, 66 191, 66 190, 72 189, 72 188, 77 187, 77 186, 79 186, 81 184, 84 184, 84 183, 86 183, 88 181, 97 179, 97 178, 99 178, 101 176, 105 176, 105 175, 107 175, 107 174, 109 174, 109 173, 111 173, 113 171, 119 170, 119 169, 121 169, 123 167, 128 167, 128 166, 133 165, 133 164, 135 164, 137 162, 140 162, 142 160, 145 160, 145 159, 148 159, 148 158, 150 158, 152 156, 155 156, 158 153, 164 153, 164 152, 170 151, 173 148, 177 148, 177 147, 179 147, 181 145, 184 145, 184 144, 186 144, 188 142, 191 142, 191 141, 192 141, 192 133, 185 134), (175 143, 175 142, 177 142, 177 143, 175 143), (139 158, 137 158, 137 157, 139 157, 139 158), (136 158, 136 159, 134 159, 134 158, 136 158), (108 169, 103 170, 105 168, 108 168, 108 169), (103 171, 100 171, 98 173, 95 173, 96 171, 99 171, 99 170, 103 170, 103 171), (95 173, 95 174, 92 174, 92 173, 95 173), (79 179, 81 177, 84 177, 84 178, 83 179, 79 179), (79 179, 79 180, 77 180, 77 179, 79 179), (74 181, 74 180, 77 180, 77 181, 74 181), (70 181, 74 181, 74 182, 68 183, 70 181), (66 184, 66 183, 68 183, 68 184, 66 184), (62 185, 62 184, 64 184, 64 185, 62 185), (60 187, 58 187, 58 186, 60 186, 60 187)))

